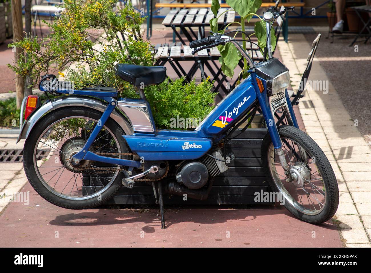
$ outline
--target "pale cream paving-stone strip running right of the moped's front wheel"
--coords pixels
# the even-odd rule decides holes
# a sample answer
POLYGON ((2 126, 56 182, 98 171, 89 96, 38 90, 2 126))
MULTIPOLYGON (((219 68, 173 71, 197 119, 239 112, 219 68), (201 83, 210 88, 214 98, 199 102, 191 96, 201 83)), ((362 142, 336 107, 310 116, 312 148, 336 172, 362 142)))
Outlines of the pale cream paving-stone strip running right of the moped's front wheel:
MULTIPOLYGON (((288 43, 279 41, 294 90, 298 90, 310 47, 302 34, 290 34, 288 43)), ((298 106, 306 132, 324 150, 338 180, 340 204, 335 219, 347 247, 370 247, 370 148, 316 58, 309 79, 329 82, 328 94, 309 87, 298 106)))

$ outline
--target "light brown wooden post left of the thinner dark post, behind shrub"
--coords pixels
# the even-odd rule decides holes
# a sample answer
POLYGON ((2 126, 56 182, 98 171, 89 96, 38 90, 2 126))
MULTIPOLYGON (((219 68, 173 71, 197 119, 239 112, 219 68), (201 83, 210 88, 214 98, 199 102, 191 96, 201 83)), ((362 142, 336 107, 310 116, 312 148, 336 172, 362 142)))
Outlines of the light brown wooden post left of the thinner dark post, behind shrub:
MULTIPOLYGON (((12 0, 12 20, 13 20, 13 40, 18 42, 22 40, 23 22, 22 22, 22 3, 20 0, 12 0)), ((16 48, 14 52, 14 62, 19 58, 24 58, 23 49, 16 48)), ((24 96, 24 79, 20 75, 16 75, 16 95, 17 109, 21 107, 24 96)))

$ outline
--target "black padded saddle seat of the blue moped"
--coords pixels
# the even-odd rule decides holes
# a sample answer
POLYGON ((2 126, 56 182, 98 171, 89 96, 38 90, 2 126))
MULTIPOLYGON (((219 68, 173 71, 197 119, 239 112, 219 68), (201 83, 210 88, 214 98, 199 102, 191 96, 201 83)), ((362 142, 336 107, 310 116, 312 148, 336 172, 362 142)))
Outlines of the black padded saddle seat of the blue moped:
POLYGON ((166 67, 116 64, 116 75, 134 86, 159 84, 166 78, 166 67))

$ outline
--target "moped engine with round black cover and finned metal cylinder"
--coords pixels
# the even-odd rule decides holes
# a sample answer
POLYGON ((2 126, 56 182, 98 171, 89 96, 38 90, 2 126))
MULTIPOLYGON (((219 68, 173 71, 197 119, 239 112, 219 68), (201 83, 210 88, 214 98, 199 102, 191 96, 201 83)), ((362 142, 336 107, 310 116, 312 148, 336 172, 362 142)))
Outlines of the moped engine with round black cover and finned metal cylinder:
POLYGON ((206 185, 209 175, 214 177, 227 169, 221 150, 218 149, 211 156, 203 156, 200 161, 186 162, 178 169, 176 178, 178 183, 184 184, 188 189, 200 189, 206 185))

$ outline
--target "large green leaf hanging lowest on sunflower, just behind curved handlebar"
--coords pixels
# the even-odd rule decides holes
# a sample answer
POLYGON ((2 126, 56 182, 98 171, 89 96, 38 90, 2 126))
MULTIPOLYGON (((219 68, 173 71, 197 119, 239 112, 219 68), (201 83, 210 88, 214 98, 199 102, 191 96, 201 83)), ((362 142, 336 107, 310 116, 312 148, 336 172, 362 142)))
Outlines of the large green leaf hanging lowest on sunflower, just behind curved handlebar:
POLYGON ((241 59, 241 54, 232 43, 218 46, 218 49, 221 55, 219 58, 221 70, 223 71, 224 75, 232 78, 234 68, 236 68, 241 59))

